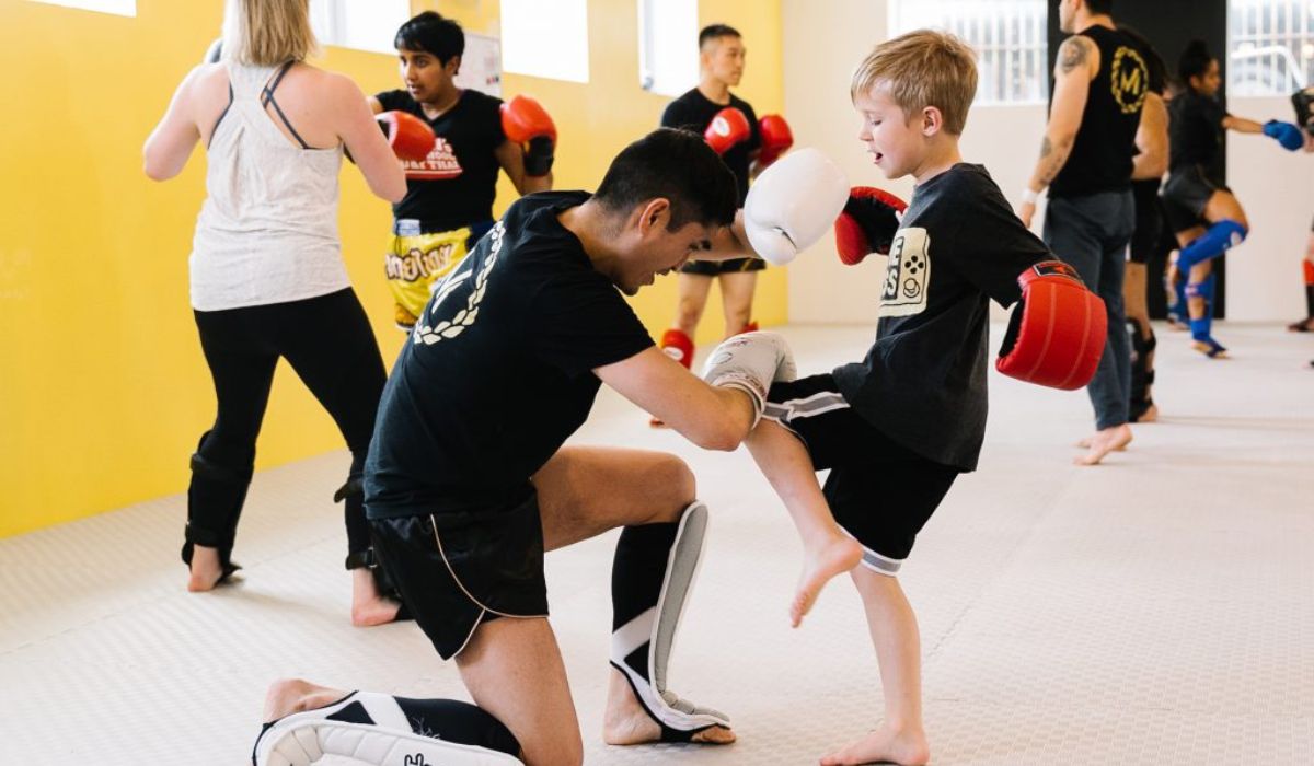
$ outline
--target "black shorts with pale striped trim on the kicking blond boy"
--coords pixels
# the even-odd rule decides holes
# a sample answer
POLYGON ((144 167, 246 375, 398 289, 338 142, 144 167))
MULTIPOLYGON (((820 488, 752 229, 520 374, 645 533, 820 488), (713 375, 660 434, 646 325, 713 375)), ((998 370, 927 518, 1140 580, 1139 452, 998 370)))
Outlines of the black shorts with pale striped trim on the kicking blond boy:
POLYGON ((830 469, 825 499, 862 544, 862 564, 896 574, 959 470, 892 441, 853 411, 830 374, 778 382, 767 402, 762 417, 792 431, 816 470, 830 469))

